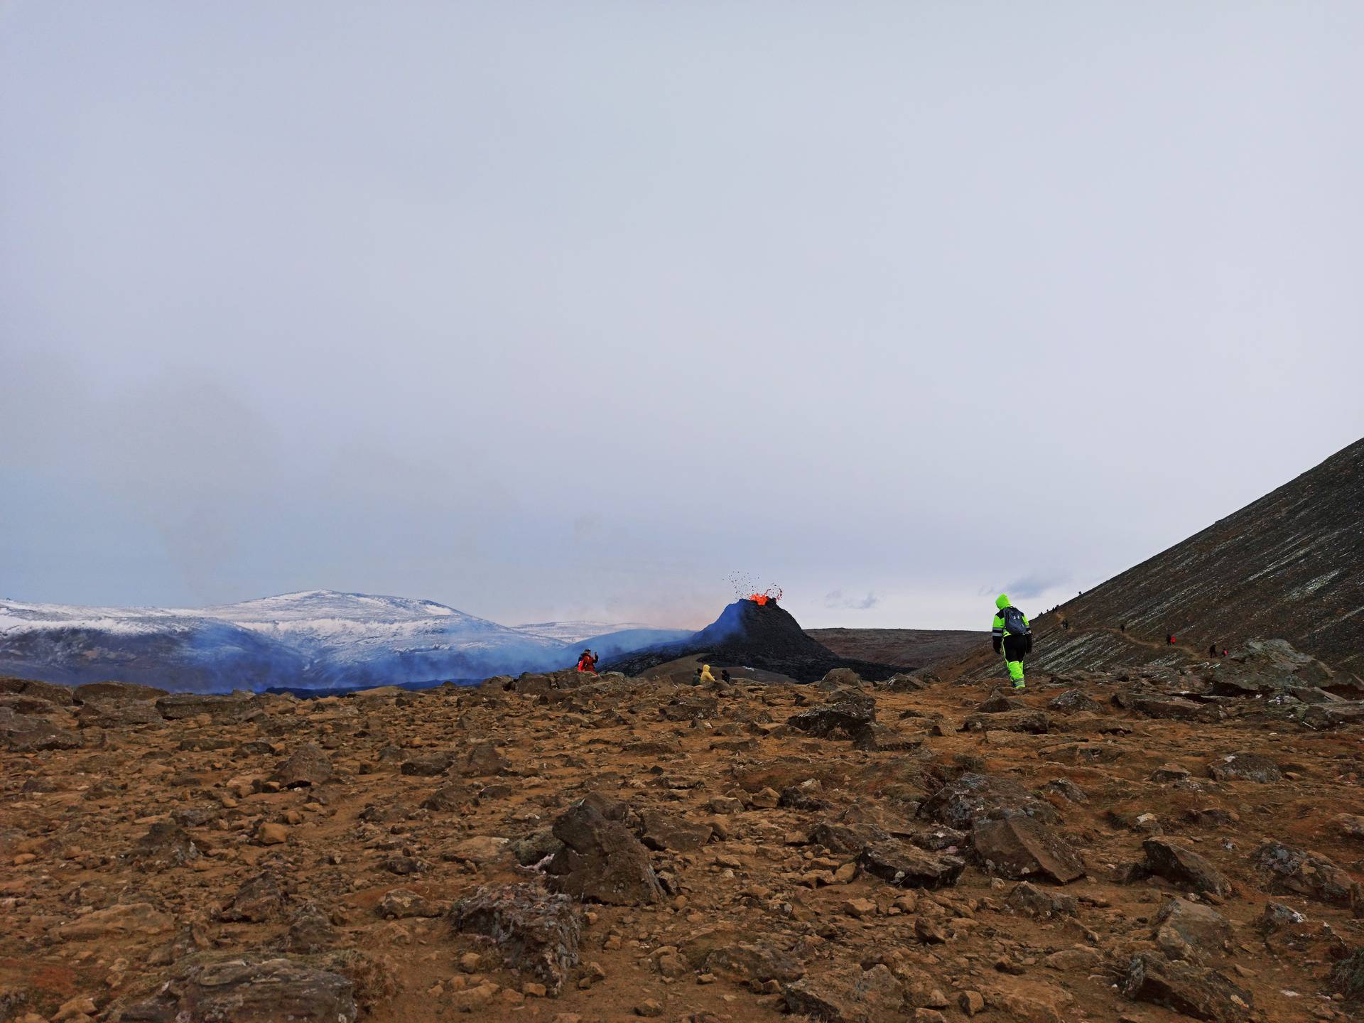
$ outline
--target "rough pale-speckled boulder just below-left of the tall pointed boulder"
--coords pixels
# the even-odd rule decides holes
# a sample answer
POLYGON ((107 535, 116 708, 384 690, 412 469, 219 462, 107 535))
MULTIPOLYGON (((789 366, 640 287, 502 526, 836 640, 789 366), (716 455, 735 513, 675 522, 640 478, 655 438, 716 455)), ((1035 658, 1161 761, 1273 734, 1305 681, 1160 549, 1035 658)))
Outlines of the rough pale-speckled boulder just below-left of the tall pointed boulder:
POLYGON ((483 934, 512 970, 527 970, 558 994, 578 963, 582 919, 565 895, 533 884, 479 888, 450 910, 454 930, 483 934))

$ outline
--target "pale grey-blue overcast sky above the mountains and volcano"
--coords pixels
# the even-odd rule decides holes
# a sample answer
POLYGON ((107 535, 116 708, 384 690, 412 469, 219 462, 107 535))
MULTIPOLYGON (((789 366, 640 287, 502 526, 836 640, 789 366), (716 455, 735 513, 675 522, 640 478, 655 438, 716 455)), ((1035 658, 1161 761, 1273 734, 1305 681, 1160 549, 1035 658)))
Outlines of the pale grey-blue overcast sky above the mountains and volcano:
POLYGON ((986 627, 1364 435, 1364 4, 0 0, 0 596, 986 627))

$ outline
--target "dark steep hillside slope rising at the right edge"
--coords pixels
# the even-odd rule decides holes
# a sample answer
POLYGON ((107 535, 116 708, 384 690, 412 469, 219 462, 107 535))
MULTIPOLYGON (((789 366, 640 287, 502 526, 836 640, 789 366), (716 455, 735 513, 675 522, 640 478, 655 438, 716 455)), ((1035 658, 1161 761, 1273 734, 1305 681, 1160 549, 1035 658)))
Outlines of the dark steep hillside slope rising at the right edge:
MULTIPOLYGON (((1033 670, 1187 663, 1210 644, 1284 638, 1364 674, 1364 441, 1057 614, 1035 615, 1033 627, 1033 670)), ((960 667, 979 674, 997 660, 960 667)))

